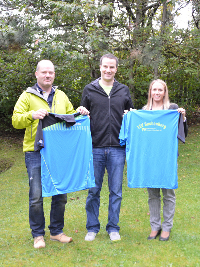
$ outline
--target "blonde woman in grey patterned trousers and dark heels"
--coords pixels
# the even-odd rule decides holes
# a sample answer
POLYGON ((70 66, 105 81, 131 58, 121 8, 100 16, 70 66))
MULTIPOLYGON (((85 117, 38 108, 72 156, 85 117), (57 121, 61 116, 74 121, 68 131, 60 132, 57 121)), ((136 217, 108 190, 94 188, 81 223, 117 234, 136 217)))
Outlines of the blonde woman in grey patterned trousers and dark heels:
MULTIPOLYGON (((157 79, 151 82, 148 92, 147 105, 143 110, 167 110, 177 109, 183 116, 183 125, 185 136, 187 136, 187 120, 186 112, 183 108, 179 108, 177 104, 170 104, 168 97, 168 87, 163 80, 157 79)), ((150 211, 151 233, 148 240, 156 239, 160 235, 160 241, 167 241, 170 236, 171 228, 173 227, 173 217, 175 213, 176 197, 174 189, 161 188, 163 192, 163 218, 161 225, 161 195, 160 188, 147 188, 148 204, 150 211), (162 231, 163 228, 163 231, 162 231)))

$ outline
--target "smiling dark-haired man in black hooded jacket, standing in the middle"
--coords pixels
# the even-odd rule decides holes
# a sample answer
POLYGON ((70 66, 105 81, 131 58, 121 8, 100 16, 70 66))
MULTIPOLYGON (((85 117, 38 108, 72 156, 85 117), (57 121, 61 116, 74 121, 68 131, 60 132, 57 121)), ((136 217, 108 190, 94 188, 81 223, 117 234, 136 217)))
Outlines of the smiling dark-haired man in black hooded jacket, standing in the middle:
POLYGON ((90 127, 93 141, 93 162, 96 187, 90 188, 86 201, 88 230, 86 241, 93 241, 100 229, 100 192, 105 168, 108 172, 109 205, 106 231, 111 241, 120 240, 119 213, 122 201, 125 147, 119 144, 119 131, 124 110, 133 108, 128 86, 114 79, 118 59, 105 54, 100 59, 101 77, 86 85, 81 105, 90 111, 90 127))

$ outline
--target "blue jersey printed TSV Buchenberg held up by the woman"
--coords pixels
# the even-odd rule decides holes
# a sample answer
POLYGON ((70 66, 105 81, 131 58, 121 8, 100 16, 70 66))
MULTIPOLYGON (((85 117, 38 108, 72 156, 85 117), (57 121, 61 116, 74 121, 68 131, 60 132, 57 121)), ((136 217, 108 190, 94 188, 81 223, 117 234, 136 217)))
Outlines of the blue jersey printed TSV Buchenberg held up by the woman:
POLYGON ((119 139, 126 144, 128 187, 178 188, 178 139, 185 142, 185 135, 176 110, 128 112, 119 139))

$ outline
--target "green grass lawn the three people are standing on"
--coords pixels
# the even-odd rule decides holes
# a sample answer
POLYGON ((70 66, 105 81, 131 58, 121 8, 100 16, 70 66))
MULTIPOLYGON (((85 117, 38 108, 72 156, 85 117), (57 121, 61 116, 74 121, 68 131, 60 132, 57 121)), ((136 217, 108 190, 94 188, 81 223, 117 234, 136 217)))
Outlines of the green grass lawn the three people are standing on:
POLYGON ((127 187, 125 166, 119 222, 121 241, 111 242, 105 230, 109 194, 105 174, 100 200, 101 229, 96 239, 84 241, 88 190, 78 191, 68 193, 65 210, 63 231, 73 238, 69 244, 50 241, 47 226, 51 198, 44 199, 45 249, 33 248, 22 141, 0 137, 0 157, 13 162, 12 167, 0 173, 0 266, 200 266, 199 135, 200 126, 190 127, 186 144, 179 143, 179 187, 175 190, 176 212, 168 242, 147 240, 151 231, 147 189, 127 187))

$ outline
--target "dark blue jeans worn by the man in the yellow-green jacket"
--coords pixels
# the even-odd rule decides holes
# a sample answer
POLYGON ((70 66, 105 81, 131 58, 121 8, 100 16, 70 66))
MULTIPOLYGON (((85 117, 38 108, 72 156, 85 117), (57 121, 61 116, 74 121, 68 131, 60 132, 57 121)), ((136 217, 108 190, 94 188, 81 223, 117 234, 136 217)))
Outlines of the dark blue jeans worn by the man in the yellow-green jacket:
MULTIPOLYGON (((25 163, 29 179, 29 223, 32 229, 32 236, 44 236, 45 218, 43 211, 40 151, 25 152, 25 163)), ((51 235, 63 233, 66 203, 67 194, 52 196, 50 225, 48 226, 51 235)))

